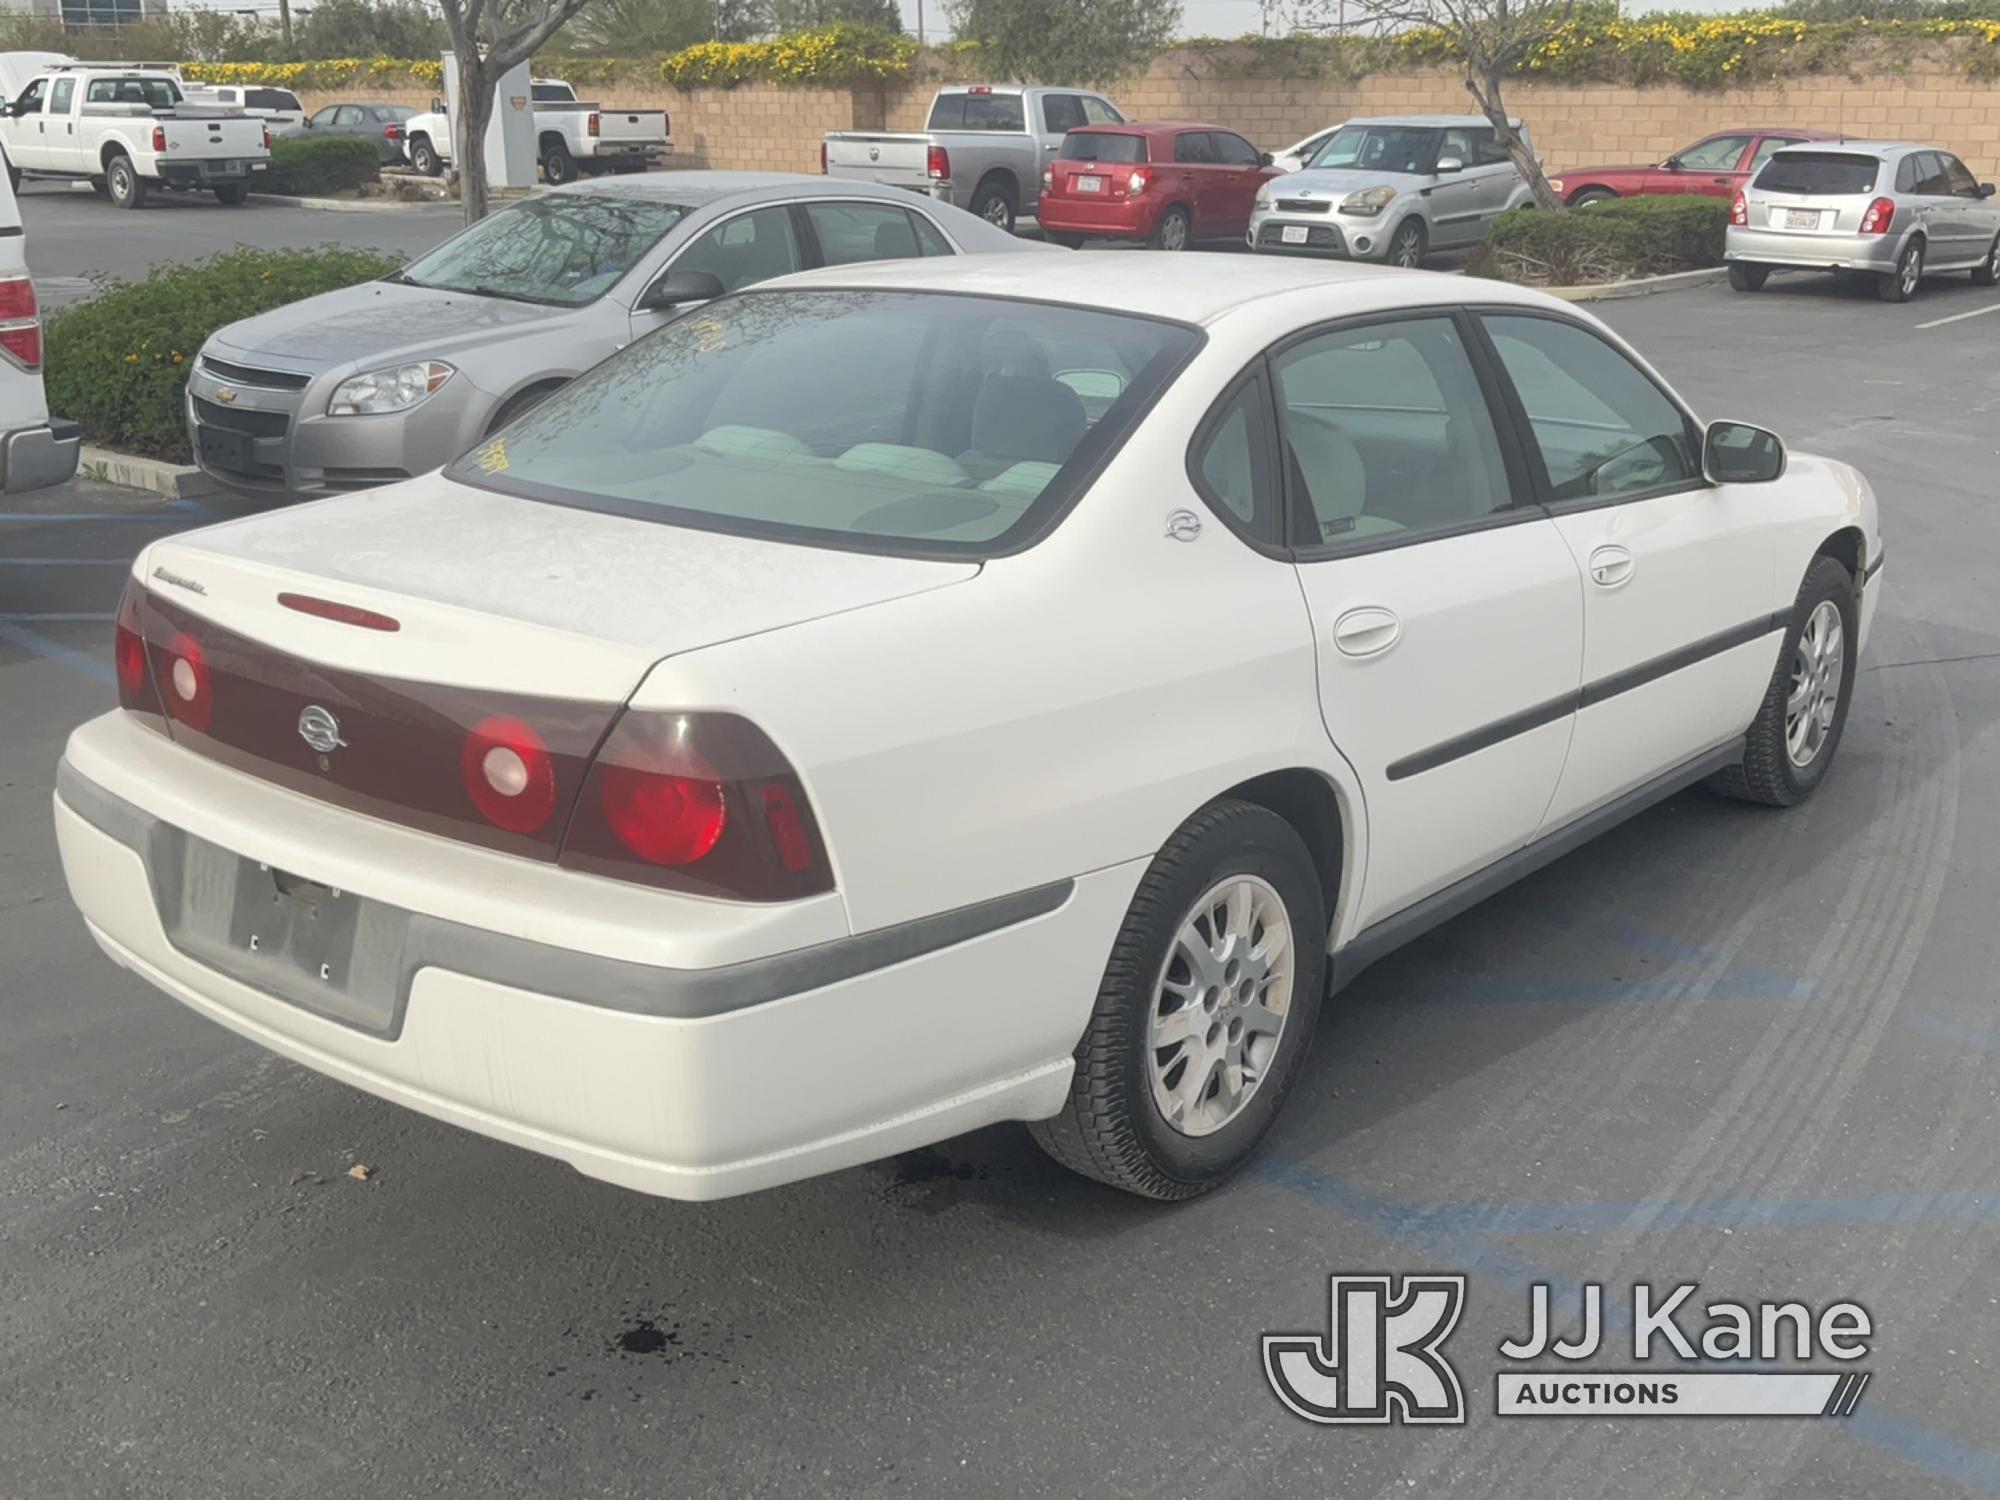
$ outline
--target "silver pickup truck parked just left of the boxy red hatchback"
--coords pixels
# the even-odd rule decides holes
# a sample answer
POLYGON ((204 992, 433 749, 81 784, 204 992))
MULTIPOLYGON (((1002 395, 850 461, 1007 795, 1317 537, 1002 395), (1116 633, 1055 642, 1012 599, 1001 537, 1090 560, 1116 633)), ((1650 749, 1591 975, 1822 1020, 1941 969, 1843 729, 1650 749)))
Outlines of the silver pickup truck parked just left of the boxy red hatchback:
POLYGON ((830 130, 820 170, 910 188, 1012 230, 1038 202, 1042 168, 1082 124, 1124 124, 1124 116, 1082 88, 950 84, 922 130, 830 130))

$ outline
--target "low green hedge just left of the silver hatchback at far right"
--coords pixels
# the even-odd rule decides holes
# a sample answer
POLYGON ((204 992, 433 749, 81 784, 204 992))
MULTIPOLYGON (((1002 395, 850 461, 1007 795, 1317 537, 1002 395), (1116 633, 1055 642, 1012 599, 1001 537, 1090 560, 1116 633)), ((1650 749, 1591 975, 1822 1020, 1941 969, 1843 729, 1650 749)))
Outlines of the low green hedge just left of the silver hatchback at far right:
POLYGON ((1728 198, 1618 198, 1550 214, 1514 208, 1486 230, 1474 272, 1582 286, 1722 264, 1728 198))

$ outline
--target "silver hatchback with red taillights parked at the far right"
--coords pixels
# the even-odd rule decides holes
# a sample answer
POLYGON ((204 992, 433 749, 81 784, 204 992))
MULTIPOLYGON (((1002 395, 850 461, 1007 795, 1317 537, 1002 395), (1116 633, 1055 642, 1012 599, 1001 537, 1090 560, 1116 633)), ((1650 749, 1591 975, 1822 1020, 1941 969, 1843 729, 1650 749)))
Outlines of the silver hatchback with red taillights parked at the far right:
POLYGON ((1870 272, 1884 302, 1908 302, 1942 270, 1994 286, 2000 202, 1992 182, 1936 146, 1788 146, 1730 204, 1722 258, 1738 292, 1756 292, 1774 268, 1870 272))

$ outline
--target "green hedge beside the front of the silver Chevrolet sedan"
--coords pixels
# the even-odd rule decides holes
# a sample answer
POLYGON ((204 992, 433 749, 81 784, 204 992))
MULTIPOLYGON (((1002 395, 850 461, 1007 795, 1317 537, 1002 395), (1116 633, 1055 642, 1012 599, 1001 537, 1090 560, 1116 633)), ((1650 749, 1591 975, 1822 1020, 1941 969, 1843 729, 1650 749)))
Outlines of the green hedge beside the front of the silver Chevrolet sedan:
POLYGON ((244 248, 116 284, 48 320, 48 406, 82 422, 84 442, 184 464, 182 390, 212 332, 398 264, 374 250, 244 248))

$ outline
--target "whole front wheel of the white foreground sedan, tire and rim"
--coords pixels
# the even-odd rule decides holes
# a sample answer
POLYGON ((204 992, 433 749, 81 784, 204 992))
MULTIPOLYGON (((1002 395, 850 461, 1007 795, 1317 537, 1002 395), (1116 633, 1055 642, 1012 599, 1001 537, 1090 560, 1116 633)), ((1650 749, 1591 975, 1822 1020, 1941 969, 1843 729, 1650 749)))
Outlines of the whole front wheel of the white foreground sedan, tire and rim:
POLYGON ((1856 610, 1854 576, 1838 558, 1814 558, 1764 704, 1744 736, 1744 760, 1710 786, 1742 802, 1790 808, 1826 780, 1854 696, 1856 610))

